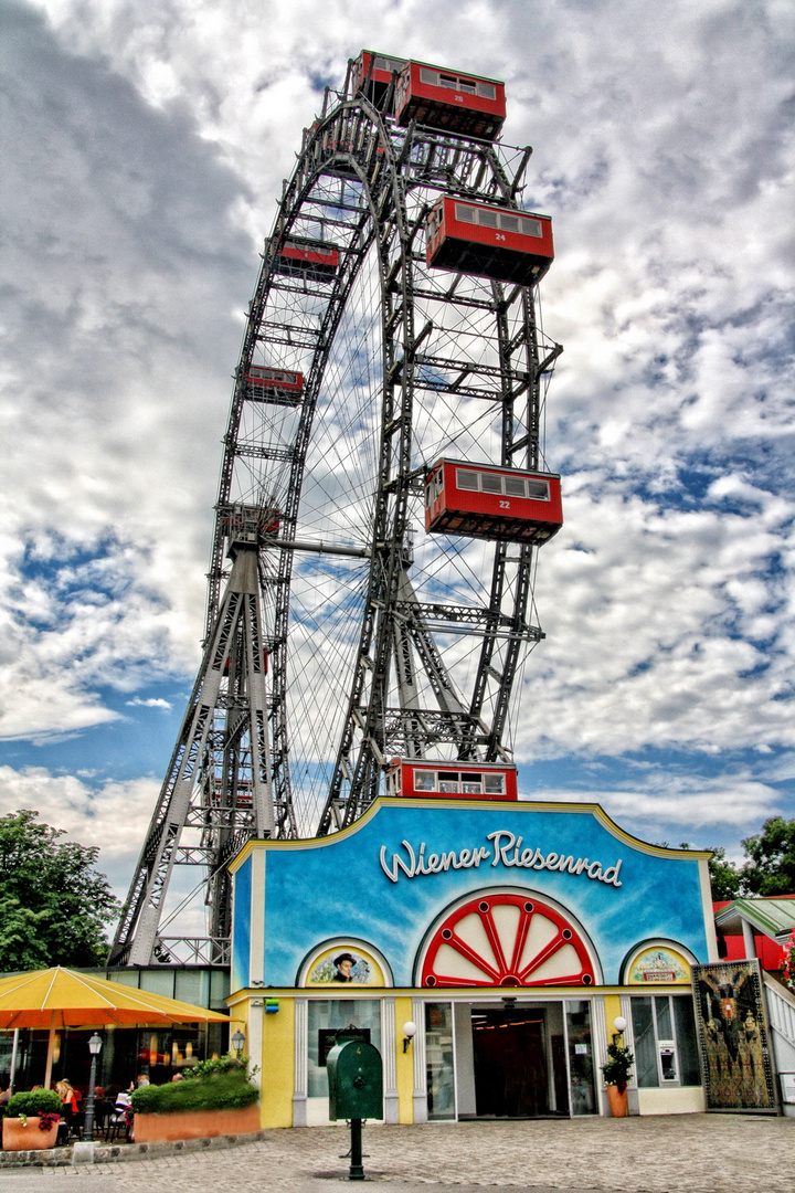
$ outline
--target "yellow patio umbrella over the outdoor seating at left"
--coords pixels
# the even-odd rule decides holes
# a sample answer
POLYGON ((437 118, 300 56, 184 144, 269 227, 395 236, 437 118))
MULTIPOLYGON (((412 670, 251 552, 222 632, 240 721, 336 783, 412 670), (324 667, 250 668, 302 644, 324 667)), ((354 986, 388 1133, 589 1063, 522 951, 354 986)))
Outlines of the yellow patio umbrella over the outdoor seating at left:
POLYGON ((228 1024, 229 1016, 162 994, 56 966, 0 978, 0 1028, 46 1027, 50 1083, 55 1032, 60 1027, 135 1027, 161 1024, 228 1024))

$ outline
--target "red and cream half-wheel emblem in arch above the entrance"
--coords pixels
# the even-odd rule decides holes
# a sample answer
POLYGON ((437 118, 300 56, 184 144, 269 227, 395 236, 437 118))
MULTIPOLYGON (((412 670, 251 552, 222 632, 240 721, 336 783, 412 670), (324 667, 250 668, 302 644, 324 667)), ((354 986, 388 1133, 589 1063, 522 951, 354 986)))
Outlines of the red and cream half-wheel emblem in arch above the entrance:
POLYGON ((482 895, 436 929, 421 984, 592 985, 594 963, 554 908, 524 895, 482 895))

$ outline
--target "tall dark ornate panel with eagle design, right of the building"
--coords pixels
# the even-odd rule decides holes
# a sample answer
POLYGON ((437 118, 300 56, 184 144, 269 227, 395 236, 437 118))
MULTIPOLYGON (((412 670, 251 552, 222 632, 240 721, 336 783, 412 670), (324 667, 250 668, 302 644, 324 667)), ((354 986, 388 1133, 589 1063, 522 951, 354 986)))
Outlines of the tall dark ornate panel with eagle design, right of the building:
POLYGON ((710 1111, 774 1111, 758 960, 692 966, 698 1051, 710 1111))

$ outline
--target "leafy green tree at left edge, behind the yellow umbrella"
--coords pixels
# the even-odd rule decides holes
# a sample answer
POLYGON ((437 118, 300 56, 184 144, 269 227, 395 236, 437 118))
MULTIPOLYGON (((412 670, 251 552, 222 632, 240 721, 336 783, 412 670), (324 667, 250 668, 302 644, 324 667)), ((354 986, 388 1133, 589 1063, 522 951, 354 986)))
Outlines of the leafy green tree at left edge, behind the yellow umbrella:
POLYGON ((62 836, 29 809, 0 816, 0 972, 105 963, 120 904, 99 848, 62 836))

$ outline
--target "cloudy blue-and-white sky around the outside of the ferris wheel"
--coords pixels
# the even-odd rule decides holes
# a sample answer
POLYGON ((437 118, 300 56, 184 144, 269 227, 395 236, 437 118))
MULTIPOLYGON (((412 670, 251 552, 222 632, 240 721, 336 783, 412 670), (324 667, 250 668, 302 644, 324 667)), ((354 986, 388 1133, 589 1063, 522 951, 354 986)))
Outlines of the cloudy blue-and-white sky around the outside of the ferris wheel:
POLYGON ((504 79, 565 346, 521 790, 795 816, 787 0, 0 0, 0 814, 119 894, 199 657, 262 237, 362 45, 504 79))

